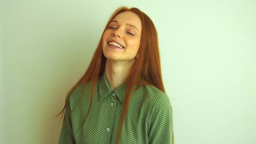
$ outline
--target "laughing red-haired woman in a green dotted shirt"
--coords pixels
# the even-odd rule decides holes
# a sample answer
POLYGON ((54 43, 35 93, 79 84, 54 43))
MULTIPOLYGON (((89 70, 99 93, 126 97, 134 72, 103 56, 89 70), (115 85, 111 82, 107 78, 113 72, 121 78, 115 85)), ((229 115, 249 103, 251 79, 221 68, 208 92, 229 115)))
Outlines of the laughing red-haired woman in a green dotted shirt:
POLYGON ((66 96, 59 144, 172 144, 158 36, 137 8, 118 8, 85 75, 66 96))

